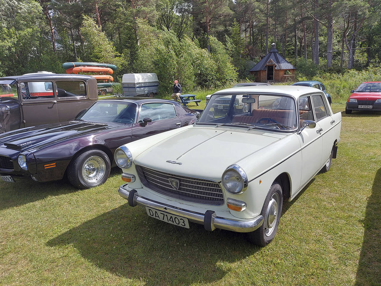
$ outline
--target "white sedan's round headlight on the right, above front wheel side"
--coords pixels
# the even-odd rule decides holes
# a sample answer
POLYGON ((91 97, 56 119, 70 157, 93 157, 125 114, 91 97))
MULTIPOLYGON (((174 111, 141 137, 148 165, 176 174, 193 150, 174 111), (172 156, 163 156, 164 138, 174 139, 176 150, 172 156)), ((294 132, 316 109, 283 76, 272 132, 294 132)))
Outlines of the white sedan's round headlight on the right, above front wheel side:
POLYGON ((231 165, 222 176, 222 184, 229 193, 243 193, 248 185, 247 175, 240 166, 231 165))

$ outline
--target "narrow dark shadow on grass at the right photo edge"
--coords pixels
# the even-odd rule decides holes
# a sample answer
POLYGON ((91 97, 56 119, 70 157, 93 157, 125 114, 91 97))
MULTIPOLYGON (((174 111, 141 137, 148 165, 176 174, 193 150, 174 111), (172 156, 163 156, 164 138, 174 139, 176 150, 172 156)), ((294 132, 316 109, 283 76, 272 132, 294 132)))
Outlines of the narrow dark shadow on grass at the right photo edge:
POLYGON ((364 239, 355 285, 381 285, 381 168, 373 180, 363 224, 364 239))

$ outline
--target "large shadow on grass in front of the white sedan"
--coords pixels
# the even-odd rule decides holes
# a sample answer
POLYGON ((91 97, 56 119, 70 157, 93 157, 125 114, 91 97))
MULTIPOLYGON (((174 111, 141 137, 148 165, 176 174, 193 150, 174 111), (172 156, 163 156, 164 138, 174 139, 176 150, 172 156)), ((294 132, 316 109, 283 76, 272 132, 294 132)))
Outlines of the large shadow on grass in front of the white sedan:
POLYGON ((258 251, 243 233, 206 231, 190 223, 181 228, 124 204, 47 242, 75 247, 83 258, 116 275, 147 286, 191 285, 222 279, 240 261, 258 251))

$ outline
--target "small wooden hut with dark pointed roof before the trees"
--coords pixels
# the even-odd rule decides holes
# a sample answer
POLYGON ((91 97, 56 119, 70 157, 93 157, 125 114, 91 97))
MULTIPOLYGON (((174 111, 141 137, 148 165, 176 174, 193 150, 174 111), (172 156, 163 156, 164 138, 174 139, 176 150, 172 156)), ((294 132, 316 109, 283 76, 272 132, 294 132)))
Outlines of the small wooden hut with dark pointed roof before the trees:
POLYGON ((295 79, 296 67, 285 60, 272 43, 269 53, 251 70, 256 82, 283 82, 295 79))

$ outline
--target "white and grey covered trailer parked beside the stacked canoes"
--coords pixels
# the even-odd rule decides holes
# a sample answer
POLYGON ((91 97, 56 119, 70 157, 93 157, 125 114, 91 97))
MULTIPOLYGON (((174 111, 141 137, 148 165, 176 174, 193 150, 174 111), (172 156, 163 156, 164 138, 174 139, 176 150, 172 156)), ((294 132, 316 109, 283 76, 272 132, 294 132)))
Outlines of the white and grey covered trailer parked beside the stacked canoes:
POLYGON ((122 87, 124 96, 154 97, 159 91, 159 81, 153 73, 123 74, 122 87))

